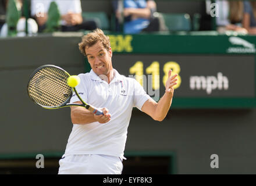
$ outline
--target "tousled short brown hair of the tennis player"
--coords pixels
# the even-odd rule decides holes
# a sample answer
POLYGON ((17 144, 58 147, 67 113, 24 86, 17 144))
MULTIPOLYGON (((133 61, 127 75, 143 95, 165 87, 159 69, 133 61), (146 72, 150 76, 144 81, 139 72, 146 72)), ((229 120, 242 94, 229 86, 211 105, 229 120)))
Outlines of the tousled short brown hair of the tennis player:
POLYGON ((82 41, 78 44, 79 50, 83 53, 84 56, 86 55, 86 47, 91 47, 96 44, 98 41, 102 42, 102 45, 106 48, 107 51, 110 49, 110 41, 109 37, 104 34, 104 32, 96 28, 93 32, 88 33, 83 36, 82 41))

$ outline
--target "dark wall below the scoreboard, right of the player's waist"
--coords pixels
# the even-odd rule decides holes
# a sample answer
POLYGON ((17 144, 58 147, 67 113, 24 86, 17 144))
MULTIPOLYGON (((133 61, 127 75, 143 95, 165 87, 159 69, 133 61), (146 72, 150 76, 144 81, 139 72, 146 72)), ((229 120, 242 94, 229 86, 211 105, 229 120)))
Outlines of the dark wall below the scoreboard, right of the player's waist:
POLYGON ((175 152, 179 174, 255 174, 255 116, 255 109, 171 109, 159 123, 134 111, 126 151, 175 152), (212 154, 219 169, 210 167, 212 154))

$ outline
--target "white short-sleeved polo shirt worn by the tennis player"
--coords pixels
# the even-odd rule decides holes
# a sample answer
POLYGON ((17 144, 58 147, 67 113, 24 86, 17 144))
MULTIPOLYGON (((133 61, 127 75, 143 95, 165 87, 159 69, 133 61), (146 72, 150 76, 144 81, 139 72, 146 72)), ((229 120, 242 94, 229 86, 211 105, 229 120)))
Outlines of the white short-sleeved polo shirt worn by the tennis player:
MULTIPOLYGON (((111 120, 104 124, 73 124, 63 157, 86 154, 123 157, 131 111, 133 107, 141 110, 150 96, 136 80, 121 76, 115 69, 109 84, 93 70, 79 77, 81 81, 76 90, 81 98, 96 108, 107 108, 111 120)), ((76 101, 79 98, 73 94, 70 102, 76 101)))

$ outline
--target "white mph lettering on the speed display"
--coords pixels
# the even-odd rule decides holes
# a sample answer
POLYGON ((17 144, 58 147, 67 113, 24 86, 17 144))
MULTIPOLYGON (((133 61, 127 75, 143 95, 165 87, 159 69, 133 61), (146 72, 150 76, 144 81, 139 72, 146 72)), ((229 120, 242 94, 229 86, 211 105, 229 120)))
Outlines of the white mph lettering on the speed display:
POLYGON ((191 90, 205 90, 207 94, 211 94, 212 90, 229 89, 229 79, 223 76, 221 72, 215 76, 190 76, 191 90))

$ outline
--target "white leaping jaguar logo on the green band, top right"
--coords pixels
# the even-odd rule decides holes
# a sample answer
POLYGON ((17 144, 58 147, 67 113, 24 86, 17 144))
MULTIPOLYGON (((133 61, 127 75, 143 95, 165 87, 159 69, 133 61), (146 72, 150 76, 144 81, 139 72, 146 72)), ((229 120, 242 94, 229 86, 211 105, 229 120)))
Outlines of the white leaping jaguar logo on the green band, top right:
POLYGON ((231 42, 232 45, 242 45, 243 47, 229 47, 227 53, 254 53, 256 51, 254 44, 240 37, 229 37, 229 42, 231 42))

